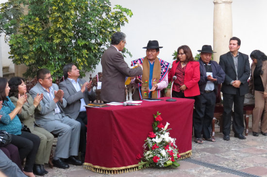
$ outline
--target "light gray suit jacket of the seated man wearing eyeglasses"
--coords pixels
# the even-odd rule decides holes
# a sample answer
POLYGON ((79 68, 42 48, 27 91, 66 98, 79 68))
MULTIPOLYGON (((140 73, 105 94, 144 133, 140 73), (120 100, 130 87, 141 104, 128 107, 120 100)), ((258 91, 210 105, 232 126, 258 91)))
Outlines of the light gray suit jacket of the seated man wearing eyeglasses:
MULTIPOLYGON (((58 90, 58 86, 56 84, 52 84, 51 87, 53 88, 52 94, 54 95, 54 91, 58 90)), ((30 94, 33 97, 33 99, 35 98, 37 93, 39 94, 43 93, 44 98, 40 102, 42 107, 41 111, 34 114, 36 123, 45 128, 47 131, 52 132, 53 130, 55 130, 56 126, 56 124, 53 123, 54 122, 53 120, 62 121, 62 118, 65 117, 63 108, 67 106, 67 101, 64 98, 63 98, 63 103, 60 102, 55 103, 53 100, 50 101, 47 92, 45 92, 45 90, 43 89, 43 87, 39 82, 30 90, 30 94), (54 109, 56 108, 56 104, 58 105, 61 111, 60 113, 61 118, 59 118, 58 115, 55 115, 54 109)))

